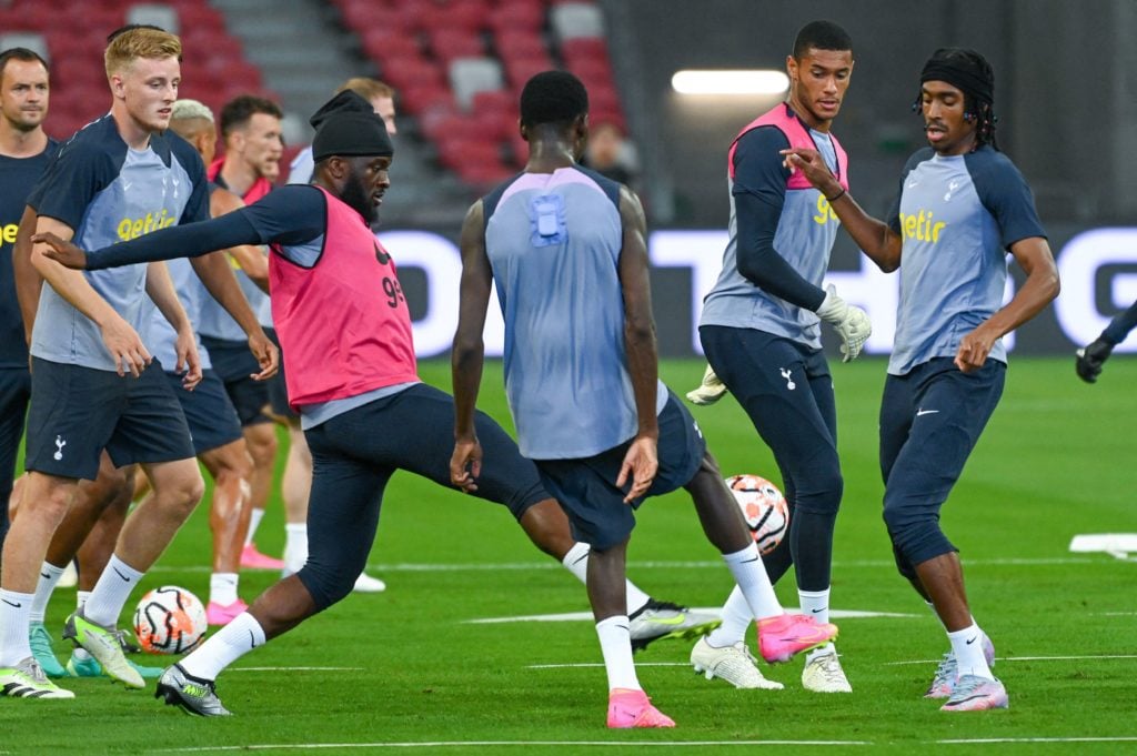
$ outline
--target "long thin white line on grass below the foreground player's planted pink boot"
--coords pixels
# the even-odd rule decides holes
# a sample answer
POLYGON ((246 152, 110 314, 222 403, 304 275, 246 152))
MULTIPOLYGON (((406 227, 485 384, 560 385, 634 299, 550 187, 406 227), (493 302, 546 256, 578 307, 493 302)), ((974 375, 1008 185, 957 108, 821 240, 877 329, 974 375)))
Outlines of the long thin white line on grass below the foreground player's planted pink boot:
POLYGON ((871 746, 871 740, 434 740, 430 742, 299 742, 257 743, 249 746, 197 746, 190 748, 166 748, 159 754, 192 754, 216 750, 316 750, 325 748, 474 748, 520 746, 631 746, 633 748, 687 748, 690 746, 871 746))

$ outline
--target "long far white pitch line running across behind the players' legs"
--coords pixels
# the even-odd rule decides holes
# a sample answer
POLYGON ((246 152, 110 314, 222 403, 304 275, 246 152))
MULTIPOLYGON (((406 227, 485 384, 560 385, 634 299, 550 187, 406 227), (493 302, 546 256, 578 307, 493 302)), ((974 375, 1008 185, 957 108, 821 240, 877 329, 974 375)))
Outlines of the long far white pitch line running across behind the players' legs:
MULTIPOLYGON (((1031 565, 1064 565, 1064 564, 1112 564, 1112 560, 1092 557, 1032 557, 1032 558, 1002 558, 1002 559, 968 559, 968 566, 1031 566, 1031 565)), ((722 570, 721 560, 708 562, 629 562, 632 570, 722 570)), ((504 562, 504 563, 476 563, 476 564, 424 564, 424 563, 399 563, 399 564, 368 564, 368 568, 375 572, 522 572, 529 570, 563 570, 562 565, 551 559, 541 562, 504 562)), ((835 568, 848 567, 883 567, 895 570, 896 563, 891 559, 850 559, 833 563, 835 568)), ((160 573, 202 573, 210 572, 207 565, 173 566, 155 565, 150 572, 160 573)))

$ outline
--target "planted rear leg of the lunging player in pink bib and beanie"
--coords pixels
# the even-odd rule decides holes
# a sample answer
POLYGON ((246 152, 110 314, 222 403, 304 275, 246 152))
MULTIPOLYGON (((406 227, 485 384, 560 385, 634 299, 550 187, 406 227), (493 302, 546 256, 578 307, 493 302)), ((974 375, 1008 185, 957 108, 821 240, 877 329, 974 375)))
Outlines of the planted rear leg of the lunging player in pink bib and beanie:
POLYGON ((235 659, 351 591, 374 542, 383 489, 393 473, 392 467, 356 458, 358 445, 354 442, 360 439, 351 432, 372 430, 340 416, 308 431, 318 473, 313 479, 308 508, 312 538, 307 563, 169 667, 158 683, 156 697, 191 714, 227 715, 216 695, 217 675, 235 659))

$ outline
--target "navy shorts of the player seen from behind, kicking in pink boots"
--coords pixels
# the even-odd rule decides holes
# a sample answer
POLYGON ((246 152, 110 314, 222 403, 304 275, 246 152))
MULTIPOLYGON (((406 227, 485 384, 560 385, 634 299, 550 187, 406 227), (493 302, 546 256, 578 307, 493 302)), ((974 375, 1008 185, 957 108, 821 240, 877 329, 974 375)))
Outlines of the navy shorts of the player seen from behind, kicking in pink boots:
POLYGON ((675 394, 669 392, 667 404, 659 413, 659 472, 647 493, 628 505, 624 497, 631 481, 620 489, 616 479, 630 446, 631 440, 582 459, 537 460, 545 488, 568 515, 573 537, 599 550, 624 542, 636 526, 633 510, 649 496, 687 485, 706 455, 706 441, 698 424, 675 394))

